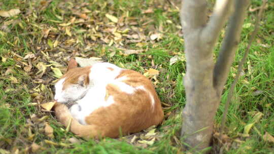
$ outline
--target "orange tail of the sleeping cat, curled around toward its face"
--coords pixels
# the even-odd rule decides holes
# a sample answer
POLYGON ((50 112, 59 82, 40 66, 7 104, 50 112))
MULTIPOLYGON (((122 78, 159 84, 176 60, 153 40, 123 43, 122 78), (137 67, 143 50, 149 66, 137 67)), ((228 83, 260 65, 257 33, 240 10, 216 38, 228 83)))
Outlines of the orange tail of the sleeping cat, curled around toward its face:
POLYGON ((104 129, 98 128, 95 125, 82 125, 77 120, 75 120, 67 106, 61 103, 56 103, 54 106, 55 116, 62 125, 67 127, 70 124, 70 130, 74 134, 84 137, 84 138, 99 138, 105 137, 104 129))

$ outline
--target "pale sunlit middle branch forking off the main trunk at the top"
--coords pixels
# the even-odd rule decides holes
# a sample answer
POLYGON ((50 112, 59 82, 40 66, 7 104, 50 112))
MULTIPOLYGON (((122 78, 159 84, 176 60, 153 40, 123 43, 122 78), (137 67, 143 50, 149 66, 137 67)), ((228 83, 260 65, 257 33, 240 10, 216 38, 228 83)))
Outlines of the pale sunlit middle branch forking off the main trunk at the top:
POLYGON ((221 29, 230 15, 233 2, 231 0, 219 0, 216 2, 208 25, 202 31, 201 40, 207 40, 210 45, 216 43, 221 29))

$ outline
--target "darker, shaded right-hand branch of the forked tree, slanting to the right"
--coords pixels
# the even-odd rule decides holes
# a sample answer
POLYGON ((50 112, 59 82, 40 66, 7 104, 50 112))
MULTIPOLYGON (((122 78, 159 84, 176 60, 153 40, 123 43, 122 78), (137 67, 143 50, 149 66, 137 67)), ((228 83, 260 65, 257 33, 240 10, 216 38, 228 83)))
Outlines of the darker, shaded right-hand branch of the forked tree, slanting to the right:
POLYGON ((230 66, 235 56, 249 1, 250 0, 237 0, 235 2, 235 11, 231 16, 226 29, 225 38, 215 64, 213 76, 214 87, 219 96, 221 96, 223 86, 227 80, 230 66))

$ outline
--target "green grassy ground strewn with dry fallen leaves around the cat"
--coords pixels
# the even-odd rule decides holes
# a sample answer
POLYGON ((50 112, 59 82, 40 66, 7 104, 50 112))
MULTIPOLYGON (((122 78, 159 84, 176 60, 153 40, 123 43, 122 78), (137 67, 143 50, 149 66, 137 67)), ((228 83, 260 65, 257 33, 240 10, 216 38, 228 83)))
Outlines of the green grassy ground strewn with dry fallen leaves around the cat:
MULTIPOLYGON (((266 132, 274 136, 274 4, 270 1, 268 3, 256 42, 251 47, 244 73, 236 86, 235 98, 229 106, 225 130, 229 139, 225 146, 220 147, 225 153, 273 153, 274 143, 263 139, 266 132), (248 135, 244 135, 245 127, 254 122, 254 115, 258 112, 262 113, 262 117, 254 123, 248 135)), ((260 4, 259 1, 252 1, 253 8, 260 4)), ((183 87, 186 62, 183 59, 169 65, 170 58, 175 55, 184 56, 184 42, 179 36, 181 32, 178 28, 179 11, 173 5, 167 1, 97 0, 64 3, 53 0, 50 3, 23 3, 4 0, 0 2, 0 6, 3 10, 19 8, 21 11, 17 16, 0 17, 0 153, 180 153, 185 144, 178 138, 180 112, 186 101, 183 87), (152 13, 143 13, 149 9, 152 13), (88 19, 83 21, 77 12, 85 13, 88 19), (110 23, 106 13, 118 18, 124 16, 121 19, 124 25, 110 23), (70 22, 67 26, 60 25, 70 22), (68 35, 66 27, 70 28, 68 31, 72 36, 68 35), (122 34, 121 38, 111 32, 111 28, 115 27, 122 34), (123 33, 126 28, 128 32, 123 33), (47 29, 51 29, 49 33, 47 29), (149 36, 154 33, 162 34, 162 38, 150 41, 149 36), (138 34, 139 38, 131 38, 133 34, 138 34), (111 40, 114 42, 108 46, 111 40), (121 48, 143 52, 124 56, 120 54, 124 50, 121 48), (23 59, 30 53, 35 54, 35 58, 23 59), (140 143, 139 141, 150 141, 153 138, 142 138, 142 135, 132 143, 129 143, 127 137, 84 140, 70 132, 66 133, 55 120, 54 113, 46 112, 40 106, 30 105, 53 99, 52 81, 56 78, 52 75, 51 67, 46 65, 63 71, 65 61, 72 55, 101 57, 142 73, 149 68, 160 71, 156 91, 165 103, 163 107, 166 119, 157 128, 154 144, 140 143), (53 64, 52 61, 58 64, 53 64), (46 67, 44 70, 39 67, 41 62, 46 67), (27 66, 31 69, 27 70, 27 66), (33 118, 34 114, 36 119, 33 118), (45 123, 54 129, 53 138, 45 134, 45 123), (71 138, 77 138, 81 144, 71 143, 71 138), (31 149, 33 143, 40 145, 40 150, 31 149)), ((217 112, 216 128, 220 127, 227 89, 247 47, 254 20, 255 12, 249 12, 245 24, 250 26, 243 29, 239 50, 217 112)), ((216 55, 218 48, 219 45, 216 55)))

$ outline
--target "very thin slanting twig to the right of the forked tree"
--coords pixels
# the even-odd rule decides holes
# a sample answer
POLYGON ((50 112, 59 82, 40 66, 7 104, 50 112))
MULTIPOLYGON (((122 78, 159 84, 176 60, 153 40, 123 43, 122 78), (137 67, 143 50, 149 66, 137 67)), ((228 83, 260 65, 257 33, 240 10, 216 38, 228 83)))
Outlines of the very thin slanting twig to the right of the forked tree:
POLYGON ((243 64, 246 62, 246 59, 247 59, 247 56, 248 56, 248 53, 249 53, 249 49, 250 49, 251 43, 254 41, 254 38, 255 38, 255 36, 256 36, 256 34, 258 32, 259 22, 261 20, 261 17, 262 17, 262 14, 263 14, 263 8, 264 8, 265 5, 266 5, 266 0, 263 1, 262 7, 260 8, 260 11, 259 11, 259 13, 257 15, 256 21, 255 21, 255 29, 254 29, 254 31, 251 34, 251 37, 250 37, 250 40, 249 40, 249 43, 248 43, 248 47, 247 47, 247 50, 245 51, 244 57, 241 60, 241 62, 239 63, 239 65, 238 65, 238 70, 237 70, 237 74, 235 76, 235 80, 233 81, 233 83, 232 83, 232 85, 231 85, 231 87, 229 89, 229 93, 228 93, 228 96, 227 96, 227 101, 225 103, 225 110, 224 110, 223 117, 222 117, 221 129, 220 129, 220 140, 221 141, 222 141, 223 130, 224 130, 224 126, 225 126, 225 122, 226 122, 226 118, 227 118, 228 106, 229 106, 229 103, 231 101, 231 98, 232 98, 232 95, 233 95, 233 91, 235 89, 235 85, 236 85, 237 81, 239 80, 239 74, 243 70, 243 64))

